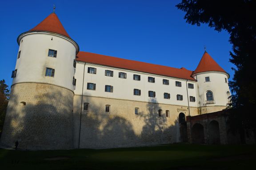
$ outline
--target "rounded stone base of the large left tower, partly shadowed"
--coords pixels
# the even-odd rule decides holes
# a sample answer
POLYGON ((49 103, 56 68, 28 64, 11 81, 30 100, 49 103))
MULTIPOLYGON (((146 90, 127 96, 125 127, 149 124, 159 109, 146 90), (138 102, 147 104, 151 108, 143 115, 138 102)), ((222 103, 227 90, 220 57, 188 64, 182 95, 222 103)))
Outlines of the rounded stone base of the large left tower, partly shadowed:
POLYGON ((73 97, 55 85, 13 85, 1 142, 14 147, 18 140, 19 148, 33 150, 72 148, 73 97))

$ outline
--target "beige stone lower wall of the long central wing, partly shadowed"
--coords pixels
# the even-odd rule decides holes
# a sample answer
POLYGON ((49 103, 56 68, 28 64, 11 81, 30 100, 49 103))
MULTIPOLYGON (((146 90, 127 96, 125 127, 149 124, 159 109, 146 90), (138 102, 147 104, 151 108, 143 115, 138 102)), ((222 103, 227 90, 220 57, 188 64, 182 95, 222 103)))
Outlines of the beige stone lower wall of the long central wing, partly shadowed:
MULTIPOLYGON (((157 102, 151 100, 149 102, 157 102)), ((84 111, 81 96, 74 97, 74 147, 111 148, 158 145, 180 142, 179 114, 188 116, 188 108, 168 104, 118 100, 103 97, 83 97, 88 104, 84 111), (105 105, 110 112, 105 112, 105 105), (139 108, 138 115, 135 108, 139 108), (162 109, 159 117, 158 110, 162 109), (169 110, 166 117, 165 111, 169 110)), ((197 115, 197 108, 190 108, 191 115, 197 115)))

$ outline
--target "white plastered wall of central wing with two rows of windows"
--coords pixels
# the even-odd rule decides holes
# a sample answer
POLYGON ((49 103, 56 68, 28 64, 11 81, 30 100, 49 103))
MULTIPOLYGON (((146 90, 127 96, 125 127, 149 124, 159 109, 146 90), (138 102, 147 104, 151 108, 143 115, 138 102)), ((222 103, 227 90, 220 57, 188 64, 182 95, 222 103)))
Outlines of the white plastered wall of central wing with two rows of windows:
MULTIPOLYGON (((85 96, 93 97, 106 97, 114 99, 124 99, 124 100, 136 100, 144 102, 158 102, 161 104, 173 104, 180 106, 188 106, 187 99, 187 89, 186 80, 177 79, 172 77, 158 76, 148 73, 136 72, 131 70, 122 70, 107 66, 99 66, 95 64, 85 64, 78 62, 76 64, 76 90, 75 95, 82 94, 82 84, 83 84, 83 73, 84 73, 84 94, 85 96), (88 73, 88 67, 93 67, 97 69, 96 74, 88 73), (105 76, 105 70, 112 70, 113 77, 105 76), (127 73, 127 78, 119 78, 118 73, 127 73), (133 80, 133 74, 140 75, 140 81, 133 80), (148 82, 148 77, 155 77, 155 83, 148 82), (163 85, 163 79, 169 80, 169 85, 163 85), (176 87, 175 81, 180 81, 182 86, 176 87), (95 83, 96 90, 88 90, 87 83, 95 83), (113 93, 105 92, 105 85, 113 86, 113 93), (140 89, 141 95, 133 95, 133 89, 140 89), (148 97, 148 91, 155 91, 156 97, 148 97), (170 93, 170 99, 164 99, 164 93, 170 93), (183 95, 183 100, 176 100, 176 95, 183 95)), ((194 84, 194 89, 188 89, 188 97, 196 97, 196 81, 188 81, 188 83, 194 84)), ((197 97, 196 97, 197 101, 197 97)), ((197 107, 198 102, 190 102, 191 107, 197 107)))

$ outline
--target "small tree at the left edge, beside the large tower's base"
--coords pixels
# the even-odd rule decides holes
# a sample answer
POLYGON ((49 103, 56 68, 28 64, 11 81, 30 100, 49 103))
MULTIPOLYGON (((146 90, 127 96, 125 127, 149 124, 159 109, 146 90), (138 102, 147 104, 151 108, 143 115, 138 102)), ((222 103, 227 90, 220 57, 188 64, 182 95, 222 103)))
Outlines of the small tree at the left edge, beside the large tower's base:
POLYGON ((8 105, 9 89, 4 79, 0 80, 0 134, 4 126, 4 118, 8 105))

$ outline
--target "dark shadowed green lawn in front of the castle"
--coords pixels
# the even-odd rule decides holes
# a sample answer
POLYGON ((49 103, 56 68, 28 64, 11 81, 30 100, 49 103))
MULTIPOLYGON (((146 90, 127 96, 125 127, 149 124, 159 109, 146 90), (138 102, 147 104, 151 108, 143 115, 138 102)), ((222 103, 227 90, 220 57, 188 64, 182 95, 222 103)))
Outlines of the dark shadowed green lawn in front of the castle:
POLYGON ((13 151, 0 149, 1 170, 246 170, 256 145, 172 144, 120 149, 13 151), (65 158, 45 160, 45 158, 65 158))

